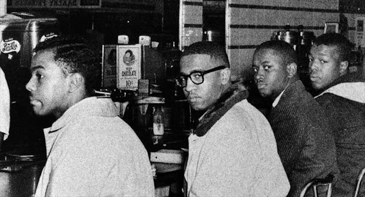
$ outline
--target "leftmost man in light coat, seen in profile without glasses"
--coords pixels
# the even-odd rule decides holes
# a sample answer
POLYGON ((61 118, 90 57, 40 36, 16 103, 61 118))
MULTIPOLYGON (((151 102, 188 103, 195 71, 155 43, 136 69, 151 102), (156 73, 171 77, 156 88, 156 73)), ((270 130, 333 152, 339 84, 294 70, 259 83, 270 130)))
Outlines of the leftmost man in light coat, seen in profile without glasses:
POLYGON ((146 149, 117 115, 111 99, 92 97, 99 59, 83 41, 40 42, 26 85, 39 115, 56 121, 44 129, 47 162, 36 197, 151 197, 146 149))

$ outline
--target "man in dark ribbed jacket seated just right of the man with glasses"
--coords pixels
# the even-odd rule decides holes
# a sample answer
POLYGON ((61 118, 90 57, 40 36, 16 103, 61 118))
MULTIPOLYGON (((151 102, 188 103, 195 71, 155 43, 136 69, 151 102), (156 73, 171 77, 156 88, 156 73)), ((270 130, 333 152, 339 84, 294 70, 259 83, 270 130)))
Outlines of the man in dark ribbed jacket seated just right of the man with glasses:
POLYGON ((264 42, 254 53, 258 92, 273 101, 268 120, 291 185, 288 197, 298 197, 314 178, 338 173, 328 120, 298 79, 296 64, 294 49, 284 41, 264 42))

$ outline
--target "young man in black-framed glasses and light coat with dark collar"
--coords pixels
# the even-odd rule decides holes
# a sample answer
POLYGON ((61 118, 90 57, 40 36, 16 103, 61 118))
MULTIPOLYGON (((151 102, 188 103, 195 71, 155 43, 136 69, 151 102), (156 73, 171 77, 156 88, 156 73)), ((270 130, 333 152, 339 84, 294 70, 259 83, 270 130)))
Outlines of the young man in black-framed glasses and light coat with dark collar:
POLYGON ((285 197, 290 186, 271 127, 230 75, 217 43, 183 51, 177 85, 194 110, 205 111, 189 136, 187 196, 285 197))

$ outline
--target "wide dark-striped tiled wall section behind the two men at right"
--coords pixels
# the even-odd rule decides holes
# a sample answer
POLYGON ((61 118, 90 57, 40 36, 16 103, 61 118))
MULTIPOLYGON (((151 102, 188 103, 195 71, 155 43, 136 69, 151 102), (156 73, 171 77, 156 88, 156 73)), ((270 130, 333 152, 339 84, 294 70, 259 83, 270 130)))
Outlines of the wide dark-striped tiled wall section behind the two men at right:
POLYGON ((252 77, 255 47, 289 24, 304 31, 323 33, 325 22, 338 22, 338 0, 228 0, 227 52, 233 78, 252 77))

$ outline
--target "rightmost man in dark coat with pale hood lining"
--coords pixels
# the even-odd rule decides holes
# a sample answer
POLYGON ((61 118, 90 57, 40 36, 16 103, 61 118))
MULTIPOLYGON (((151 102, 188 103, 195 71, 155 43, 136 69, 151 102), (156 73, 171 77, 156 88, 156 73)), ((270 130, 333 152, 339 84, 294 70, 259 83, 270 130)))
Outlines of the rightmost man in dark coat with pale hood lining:
MULTIPOLYGON (((316 100, 325 109, 335 138, 340 177, 334 196, 352 197, 365 167, 365 82, 348 73, 350 41, 338 33, 319 36, 311 48, 309 68, 316 100)), ((365 187, 359 196, 365 196, 365 187)))

